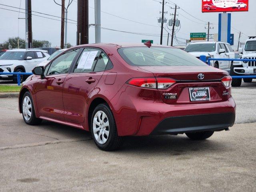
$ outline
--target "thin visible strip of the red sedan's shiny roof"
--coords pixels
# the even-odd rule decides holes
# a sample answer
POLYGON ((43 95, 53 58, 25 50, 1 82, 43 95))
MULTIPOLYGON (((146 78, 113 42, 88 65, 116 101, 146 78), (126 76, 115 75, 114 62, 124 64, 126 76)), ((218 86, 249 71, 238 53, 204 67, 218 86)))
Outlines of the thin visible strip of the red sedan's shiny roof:
MULTIPOLYGON (((164 46, 158 44, 152 44, 152 47, 168 47, 171 46, 164 46)), ((116 47, 116 48, 124 48, 124 47, 146 47, 144 43, 94 43, 94 44, 83 44, 74 46, 72 48, 79 48, 79 47, 98 47, 98 48, 106 48, 106 47, 116 47)), ((171 47, 173 48, 173 47, 171 47)))

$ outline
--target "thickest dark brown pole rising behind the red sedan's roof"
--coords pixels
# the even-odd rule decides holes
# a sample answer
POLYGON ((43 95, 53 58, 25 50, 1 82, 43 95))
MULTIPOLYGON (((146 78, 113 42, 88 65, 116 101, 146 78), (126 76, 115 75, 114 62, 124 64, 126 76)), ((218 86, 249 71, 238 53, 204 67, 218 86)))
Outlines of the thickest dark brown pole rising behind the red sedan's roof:
POLYGON ((77 36, 76 45, 89 43, 89 24, 88 24, 88 0, 77 1, 77 36))

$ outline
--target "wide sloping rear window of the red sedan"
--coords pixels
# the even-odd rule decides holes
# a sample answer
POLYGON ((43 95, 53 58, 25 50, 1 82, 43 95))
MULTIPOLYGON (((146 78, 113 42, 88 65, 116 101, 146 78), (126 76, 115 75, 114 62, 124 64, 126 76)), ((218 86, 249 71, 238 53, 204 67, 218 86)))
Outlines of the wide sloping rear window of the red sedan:
POLYGON ((204 62, 178 48, 119 48, 119 54, 132 66, 204 66, 204 62))

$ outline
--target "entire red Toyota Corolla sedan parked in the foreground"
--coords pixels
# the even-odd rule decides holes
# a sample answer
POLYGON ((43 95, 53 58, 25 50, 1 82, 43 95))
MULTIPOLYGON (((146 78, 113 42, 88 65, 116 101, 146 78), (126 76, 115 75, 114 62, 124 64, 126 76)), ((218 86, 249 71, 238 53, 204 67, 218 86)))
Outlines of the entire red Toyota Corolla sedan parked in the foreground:
POLYGON ((123 136, 202 140, 235 121, 228 73, 178 48, 86 44, 33 73, 19 96, 26 124, 48 120, 90 131, 102 150, 118 148, 123 136))

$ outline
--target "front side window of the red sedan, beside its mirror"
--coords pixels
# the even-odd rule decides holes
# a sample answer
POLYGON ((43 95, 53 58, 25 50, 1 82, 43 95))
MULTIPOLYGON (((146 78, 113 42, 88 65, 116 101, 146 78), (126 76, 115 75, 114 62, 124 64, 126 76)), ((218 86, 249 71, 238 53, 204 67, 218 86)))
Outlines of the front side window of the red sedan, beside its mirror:
POLYGON ((68 73, 68 70, 78 52, 79 49, 70 50, 53 60, 50 64, 47 75, 68 73))

